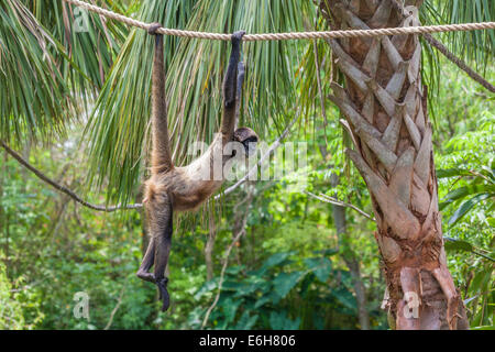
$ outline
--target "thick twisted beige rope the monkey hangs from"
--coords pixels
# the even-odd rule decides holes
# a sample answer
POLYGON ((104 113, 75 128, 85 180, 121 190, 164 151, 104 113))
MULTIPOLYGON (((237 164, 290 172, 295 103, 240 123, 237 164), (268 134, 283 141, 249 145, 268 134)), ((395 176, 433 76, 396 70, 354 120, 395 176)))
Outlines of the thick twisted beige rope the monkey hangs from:
MULTIPOLYGON (((99 8, 97 6, 79 0, 64 0, 68 3, 75 4, 91 12, 99 13, 106 18, 123 22, 143 30, 150 28, 151 23, 141 22, 110 10, 99 8)), ((495 22, 482 23, 462 23, 462 24, 442 24, 442 25, 427 25, 427 26, 407 26, 393 29, 377 29, 377 30, 352 30, 352 31, 322 31, 322 32, 290 32, 290 33, 263 33, 263 34, 245 34, 242 40, 244 42, 256 41, 287 41, 287 40, 316 40, 316 38, 340 38, 340 37, 363 37, 363 36, 382 36, 382 35, 402 35, 402 34, 425 34, 425 33, 440 33, 440 32, 457 32, 457 31, 475 31, 475 30, 493 30, 495 22)), ((158 29, 157 33, 164 35, 174 35, 183 37, 196 37, 215 41, 230 41, 231 34, 223 33, 207 33, 194 32, 173 29, 158 29)))

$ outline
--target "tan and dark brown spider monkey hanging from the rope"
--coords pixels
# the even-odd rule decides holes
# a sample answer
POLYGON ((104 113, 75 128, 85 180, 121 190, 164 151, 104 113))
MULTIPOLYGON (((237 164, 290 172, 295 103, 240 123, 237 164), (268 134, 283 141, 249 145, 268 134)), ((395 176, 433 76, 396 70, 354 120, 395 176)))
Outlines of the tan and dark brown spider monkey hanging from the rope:
POLYGON ((220 161, 223 170, 226 163, 237 156, 238 150, 250 155, 253 151, 252 143, 256 143, 258 139, 256 133, 249 128, 235 130, 244 78, 244 65, 240 62, 240 48, 245 32, 239 31, 231 36, 232 52, 223 80, 223 112, 220 133, 216 135, 209 148, 191 164, 184 167, 174 166, 165 102, 163 35, 156 32, 160 28, 160 23, 153 23, 148 29, 148 33, 155 35, 152 73, 153 150, 151 157, 152 176, 145 183, 143 204, 151 240, 136 275, 144 280, 156 284, 160 290, 160 299, 163 301, 162 311, 165 311, 169 306, 169 296, 167 292, 168 278, 164 274, 172 245, 173 211, 194 210, 206 201, 220 188, 224 179, 224 175, 222 177, 212 175, 215 174, 216 161, 220 161), (230 154, 224 155, 223 147, 229 142, 242 143, 243 148, 234 147, 230 154), (198 179, 197 175, 205 173, 205 170, 207 170, 209 177, 198 179), (152 266, 154 266, 153 273, 148 272, 152 266))

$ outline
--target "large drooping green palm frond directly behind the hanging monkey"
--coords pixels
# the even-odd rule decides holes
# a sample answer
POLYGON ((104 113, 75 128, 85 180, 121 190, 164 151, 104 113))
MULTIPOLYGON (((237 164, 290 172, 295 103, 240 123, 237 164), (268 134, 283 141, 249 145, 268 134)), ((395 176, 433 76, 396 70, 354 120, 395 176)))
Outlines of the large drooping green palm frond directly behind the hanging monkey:
MULTIPOLYGON (((164 26, 249 33, 304 30, 309 1, 144 1, 136 18, 164 26)), ((268 127, 283 130, 280 107, 292 105, 298 47, 307 42, 256 42, 244 44, 246 81, 241 124, 263 134, 268 127)), ((168 122, 176 164, 187 161, 187 145, 209 142, 218 130, 222 72, 230 52, 228 43, 167 37, 165 46, 168 122)), ((105 84, 88 138, 95 180, 109 182, 109 199, 128 201, 144 164, 148 133, 150 86, 153 45, 142 30, 132 30, 105 84)))

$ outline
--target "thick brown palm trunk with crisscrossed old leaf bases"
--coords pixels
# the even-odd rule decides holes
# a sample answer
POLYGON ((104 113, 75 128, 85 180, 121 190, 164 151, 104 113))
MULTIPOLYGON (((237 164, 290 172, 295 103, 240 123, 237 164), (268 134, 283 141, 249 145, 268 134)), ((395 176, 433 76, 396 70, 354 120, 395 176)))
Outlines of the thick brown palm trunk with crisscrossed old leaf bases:
MULTIPOLYGON (((333 30, 415 25, 393 0, 321 0, 333 30)), ((422 0, 406 1, 420 7, 422 0)), ((415 10, 415 8, 407 8, 415 10)), ((375 232, 396 329, 457 329, 463 304, 446 263, 437 177, 415 35, 329 40, 344 87, 330 99, 345 116, 349 157, 372 196, 375 232)), ((465 327, 462 317, 459 328, 465 327)))

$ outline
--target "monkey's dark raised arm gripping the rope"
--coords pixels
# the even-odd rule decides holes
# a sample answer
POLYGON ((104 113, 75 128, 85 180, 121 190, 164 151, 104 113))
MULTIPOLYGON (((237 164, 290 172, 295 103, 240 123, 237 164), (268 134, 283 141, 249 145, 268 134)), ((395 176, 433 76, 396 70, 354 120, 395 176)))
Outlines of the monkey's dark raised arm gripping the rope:
POLYGON ((232 52, 230 53, 229 66, 227 67, 226 78, 223 79, 223 113, 220 132, 223 135, 227 135, 229 140, 235 127, 235 111, 238 107, 238 65, 241 57, 242 36, 244 34, 244 31, 232 34, 232 52))

